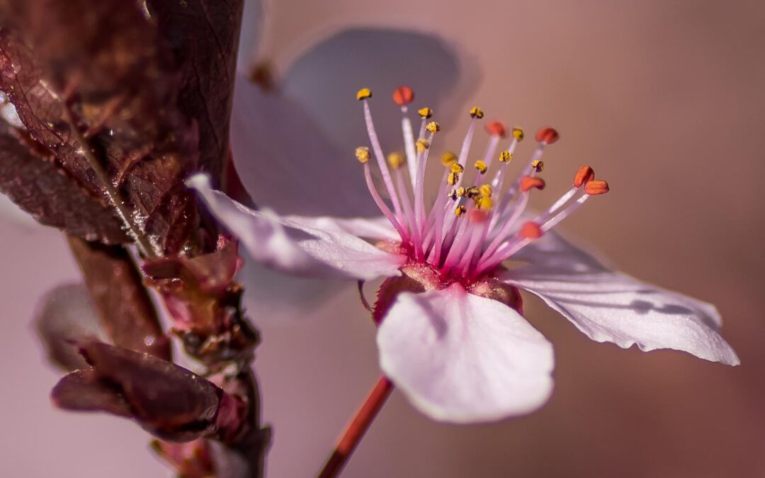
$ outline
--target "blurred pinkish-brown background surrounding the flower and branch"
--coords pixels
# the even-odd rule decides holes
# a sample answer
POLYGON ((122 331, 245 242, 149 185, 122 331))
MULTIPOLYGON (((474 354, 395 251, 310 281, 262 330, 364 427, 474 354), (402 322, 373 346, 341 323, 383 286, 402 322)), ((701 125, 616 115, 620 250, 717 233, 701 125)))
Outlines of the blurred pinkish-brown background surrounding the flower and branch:
MULTIPOLYGON (((591 162, 612 192, 565 230, 631 275, 717 304, 742 363, 592 343, 527 297, 526 316, 555 344, 545 408, 457 427, 394 393, 344 476, 765 476, 765 3, 272 3, 261 51, 277 69, 340 24, 421 28, 456 44, 480 67, 471 104, 562 132, 537 204, 591 162)), ((464 123, 449 125, 451 142, 464 123)), ((5 221, 0 245, 0 474, 167 476, 135 424, 48 402, 59 373, 29 322, 44 291, 77 281, 60 234, 5 221)), ((355 294, 322 310, 288 324, 255 317, 272 478, 314 475, 378 374, 355 294)))

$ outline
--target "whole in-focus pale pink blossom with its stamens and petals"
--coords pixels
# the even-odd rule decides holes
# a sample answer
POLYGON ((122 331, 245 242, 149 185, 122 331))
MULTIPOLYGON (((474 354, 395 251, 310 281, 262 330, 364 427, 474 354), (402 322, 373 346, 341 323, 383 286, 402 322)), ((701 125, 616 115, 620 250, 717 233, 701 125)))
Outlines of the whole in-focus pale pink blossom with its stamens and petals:
MULTIPOLYGON (((530 194, 545 187, 539 177, 542 152, 558 139, 555 129, 539 130, 531 158, 513 178, 508 165, 522 130, 508 134, 500 122, 490 123, 486 150, 468 161, 483 118, 481 109, 471 109, 461 148, 441 158, 438 196, 426 203, 425 170, 440 125, 423 108, 415 128, 408 115, 412 89, 396 89, 404 154, 386 156, 371 96, 369 89, 357 94, 370 148, 356 149, 356 158, 382 216, 279 216, 211 190, 203 175, 188 184, 265 265, 314 278, 384 278, 372 309, 380 366, 426 415, 491 421, 532 411, 549 397, 552 345, 522 317, 519 289, 542 298, 592 340, 738 363, 718 334, 721 319, 711 304, 611 271, 551 230, 592 197, 607 193, 607 182, 595 179, 591 167, 579 168, 571 189, 548 210, 526 212, 530 194), (506 137, 509 145, 498 153, 506 137), (373 164, 382 191, 373 180, 373 164), (466 174, 469 167, 476 170, 473 180, 466 174), (513 268, 508 259, 522 265, 513 268)), ((342 187, 329 184, 327 193, 342 187)))

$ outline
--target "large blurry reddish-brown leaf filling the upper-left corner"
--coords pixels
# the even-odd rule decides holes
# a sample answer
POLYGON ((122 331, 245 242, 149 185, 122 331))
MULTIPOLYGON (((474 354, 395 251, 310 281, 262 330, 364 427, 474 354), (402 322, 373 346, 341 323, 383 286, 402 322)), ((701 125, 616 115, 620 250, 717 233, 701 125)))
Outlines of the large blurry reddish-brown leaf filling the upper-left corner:
POLYGON ((124 203, 156 248, 179 251, 197 225, 182 180, 199 138, 155 22, 122 0, 2 2, 0 13, 0 89, 31 137, 91 192, 124 203))

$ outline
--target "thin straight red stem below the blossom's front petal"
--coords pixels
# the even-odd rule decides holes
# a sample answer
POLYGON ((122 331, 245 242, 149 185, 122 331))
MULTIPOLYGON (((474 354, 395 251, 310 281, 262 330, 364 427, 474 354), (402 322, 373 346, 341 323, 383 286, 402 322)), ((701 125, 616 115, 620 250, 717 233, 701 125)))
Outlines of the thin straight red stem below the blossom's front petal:
POLYGON ((340 474, 392 390, 392 382, 386 376, 380 377, 343 432, 327 463, 324 463, 319 478, 334 478, 340 474))

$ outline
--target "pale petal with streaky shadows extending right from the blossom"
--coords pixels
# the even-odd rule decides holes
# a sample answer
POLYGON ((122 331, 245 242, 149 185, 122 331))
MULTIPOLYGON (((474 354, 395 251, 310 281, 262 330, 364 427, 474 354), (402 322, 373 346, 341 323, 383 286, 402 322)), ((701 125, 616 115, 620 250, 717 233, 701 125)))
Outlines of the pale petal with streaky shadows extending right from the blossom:
POLYGON ((592 340, 623 348, 636 344, 644 351, 682 350, 738 365, 718 333, 721 317, 713 305, 612 272, 555 233, 532 246, 517 258, 530 263, 501 278, 538 295, 592 340))

